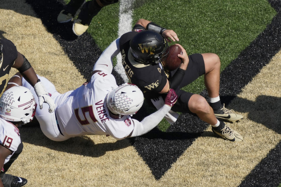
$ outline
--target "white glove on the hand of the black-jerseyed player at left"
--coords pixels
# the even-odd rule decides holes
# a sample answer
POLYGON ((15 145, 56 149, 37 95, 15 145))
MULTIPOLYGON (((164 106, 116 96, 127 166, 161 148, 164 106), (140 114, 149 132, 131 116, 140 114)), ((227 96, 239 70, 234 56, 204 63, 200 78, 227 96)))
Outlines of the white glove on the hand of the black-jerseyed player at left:
POLYGON ((55 102, 49 96, 48 92, 45 90, 42 82, 37 82, 34 85, 34 91, 38 96, 39 107, 40 109, 43 108, 43 103, 47 103, 49 105, 49 112, 52 113, 55 110, 55 102))

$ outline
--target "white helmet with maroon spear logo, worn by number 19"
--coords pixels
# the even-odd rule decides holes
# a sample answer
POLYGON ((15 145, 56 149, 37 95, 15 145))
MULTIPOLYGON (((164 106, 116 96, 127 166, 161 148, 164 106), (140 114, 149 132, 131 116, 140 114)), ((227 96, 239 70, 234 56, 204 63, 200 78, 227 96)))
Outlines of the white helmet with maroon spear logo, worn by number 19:
POLYGON ((13 86, 0 98, 0 116, 7 121, 31 122, 36 111, 36 102, 31 91, 23 86, 13 86))

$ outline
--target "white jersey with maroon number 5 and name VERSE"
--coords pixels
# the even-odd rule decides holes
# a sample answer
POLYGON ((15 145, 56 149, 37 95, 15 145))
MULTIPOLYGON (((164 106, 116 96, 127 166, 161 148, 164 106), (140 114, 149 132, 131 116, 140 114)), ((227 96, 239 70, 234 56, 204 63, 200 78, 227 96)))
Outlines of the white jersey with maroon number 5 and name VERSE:
POLYGON ((91 81, 56 98, 57 120, 63 135, 111 135, 116 139, 128 136, 134 128, 129 115, 113 119, 106 106, 106 95, 118 87, 113 75, 100 71, 91 81))

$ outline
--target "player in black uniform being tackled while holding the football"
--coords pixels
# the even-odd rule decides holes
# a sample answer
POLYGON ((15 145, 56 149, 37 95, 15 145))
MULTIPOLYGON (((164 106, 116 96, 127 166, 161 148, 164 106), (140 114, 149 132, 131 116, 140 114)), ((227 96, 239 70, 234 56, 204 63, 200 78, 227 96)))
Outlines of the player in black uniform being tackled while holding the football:
MULTIPOLYGON (((236 122, 243 118, 220 102, 220 58, 214 53, 188 56, 185 49, 177 44, 183 52, 178 55, 182 63, 177 70, 167 73, 162 63, 165 63, 169 53, 169 39, 179 41, 173 30, 140 19, 132 32, 114 41, 121 52, 127 77, 143 91, 146 99, 152 99, 156 108, 159 105, 157 102, 163 101, 162 97, 172 88, 179 96, 178 102, 172 107, 173 111, 195 113, 201 120, 211 124, 215 134, 232 142, 242 141, 243 137, 238 132, 219 121, 236 122), (181 90, 201 75, 205 78, 210 104, 203 96, 181 90)), ((102 55, 113 54, 106 50, 102 55)))

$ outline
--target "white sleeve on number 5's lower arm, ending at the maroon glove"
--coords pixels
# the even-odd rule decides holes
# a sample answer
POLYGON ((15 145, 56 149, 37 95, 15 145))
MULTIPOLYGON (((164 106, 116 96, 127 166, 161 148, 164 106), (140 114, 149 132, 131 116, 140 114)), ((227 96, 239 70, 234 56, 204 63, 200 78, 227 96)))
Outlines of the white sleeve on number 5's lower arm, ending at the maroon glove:
POLYGON ((151 131, 170 110, 171 107, 163 105, 159 110, 145 117, 141 122, 134 120, 134 129, 131 137, 141 136, 151 131))

